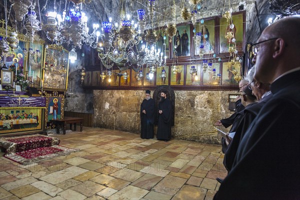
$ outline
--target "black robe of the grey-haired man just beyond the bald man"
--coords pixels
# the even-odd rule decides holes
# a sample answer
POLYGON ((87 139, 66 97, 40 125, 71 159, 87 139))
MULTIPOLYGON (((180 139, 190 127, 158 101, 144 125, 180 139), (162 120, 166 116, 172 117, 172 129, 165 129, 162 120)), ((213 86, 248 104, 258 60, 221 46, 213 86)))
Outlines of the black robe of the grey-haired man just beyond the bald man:
POLYGON ((223 163, 228 171, 230 171, 232 169, 233 160, 236 155, 236 150, 238 148, 240 140, 244 136, 246 130, 248 129, 248 127, 250 126, 252 121, 254 121, 254 118, 256 117, 256 115, 258 114, 258 112, 260 111, 262 106, 271 97, 272 97, 272 94, 270 93, 269 95, 261 98, 257 103, 249 104, 250 106, 247 105, 245 107, 245 109, 243 110, 244 114, 241 117, 237 127, 234 130, 235 131, 234 137, 231 140, 230 144, 228 145, 226 153, 224 155, 223 163))

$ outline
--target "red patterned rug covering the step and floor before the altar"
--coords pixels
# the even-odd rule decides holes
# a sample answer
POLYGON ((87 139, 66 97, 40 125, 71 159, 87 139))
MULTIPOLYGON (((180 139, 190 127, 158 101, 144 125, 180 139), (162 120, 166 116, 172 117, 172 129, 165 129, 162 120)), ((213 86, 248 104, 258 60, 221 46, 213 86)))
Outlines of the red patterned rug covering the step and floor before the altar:
POLYGON ((56 137, 32 134, 1 137, 0 147, 6 149, 4 157, 23 165, 78 151, 60 146, 59 142, 56 137))

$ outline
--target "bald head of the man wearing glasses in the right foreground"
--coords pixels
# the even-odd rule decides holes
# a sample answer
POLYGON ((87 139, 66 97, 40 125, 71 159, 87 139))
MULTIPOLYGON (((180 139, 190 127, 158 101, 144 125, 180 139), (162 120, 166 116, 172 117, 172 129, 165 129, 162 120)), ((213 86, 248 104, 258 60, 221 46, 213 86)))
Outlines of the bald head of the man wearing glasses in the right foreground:
POLYGON ((254 78, 261 83, 272 83, 278 76, 300 66, 300 15, 280 19, 266 27, 255 47, 254 78))

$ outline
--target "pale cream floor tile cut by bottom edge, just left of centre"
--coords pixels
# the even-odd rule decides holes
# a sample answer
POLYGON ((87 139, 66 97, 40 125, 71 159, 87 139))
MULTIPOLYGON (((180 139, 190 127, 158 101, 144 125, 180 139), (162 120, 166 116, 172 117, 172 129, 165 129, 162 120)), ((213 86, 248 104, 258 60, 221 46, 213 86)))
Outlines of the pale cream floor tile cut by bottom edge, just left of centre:
POLYGON ((107 199, 140 199, 149 191, 132 185, 128 185, 109 196, 107 199))

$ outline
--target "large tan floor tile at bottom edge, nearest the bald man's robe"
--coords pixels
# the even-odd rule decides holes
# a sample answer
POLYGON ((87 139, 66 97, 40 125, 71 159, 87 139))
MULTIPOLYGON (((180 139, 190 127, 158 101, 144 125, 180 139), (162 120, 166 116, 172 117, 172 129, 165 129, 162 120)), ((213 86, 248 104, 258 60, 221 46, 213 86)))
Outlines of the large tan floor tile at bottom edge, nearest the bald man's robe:
POLYGON ((172 199, 196 199, 203 200, 206 194, 206 189, 192 185, 183 185, 180 190, 173 196, 172 199))

